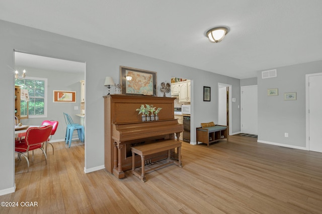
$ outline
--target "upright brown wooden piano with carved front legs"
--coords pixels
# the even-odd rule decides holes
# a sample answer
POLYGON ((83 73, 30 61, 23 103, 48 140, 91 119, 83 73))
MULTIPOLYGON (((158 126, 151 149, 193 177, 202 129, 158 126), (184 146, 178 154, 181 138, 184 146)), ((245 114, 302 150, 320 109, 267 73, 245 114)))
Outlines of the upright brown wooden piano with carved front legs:
MULTIPOLYGON (((157 143, 166 139, 179 140, 183 125, 174 117, 174 100, 171 97, 107 95, 104 96, 105 168, 118 178, 132 169, 131 146, 157 143), (162 108, 159 120, 141 121, 136 111, 142 104, 162 108)), ((145 159, 155 162, 168 157, 168 152, 147 155, 145 159)), ((141 165, 135 156, 135 166, 141 165)))

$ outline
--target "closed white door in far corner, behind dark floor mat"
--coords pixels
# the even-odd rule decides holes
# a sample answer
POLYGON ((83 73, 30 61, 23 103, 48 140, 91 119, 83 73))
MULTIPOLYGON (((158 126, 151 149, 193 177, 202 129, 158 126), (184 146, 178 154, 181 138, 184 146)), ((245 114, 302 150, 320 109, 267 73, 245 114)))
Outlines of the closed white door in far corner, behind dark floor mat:
POLYGON ((241 132, 257 134, 257 85, 242 86, 241 132))

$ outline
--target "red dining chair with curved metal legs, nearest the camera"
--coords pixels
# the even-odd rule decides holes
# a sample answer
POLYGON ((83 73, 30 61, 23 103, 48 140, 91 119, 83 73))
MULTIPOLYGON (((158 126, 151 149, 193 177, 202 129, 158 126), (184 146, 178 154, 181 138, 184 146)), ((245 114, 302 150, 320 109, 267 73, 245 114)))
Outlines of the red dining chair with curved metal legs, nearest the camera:
POLYGON ((41 126, 41 127, 29 127, 26 132, 25 139, 22 139, 20 143, 15 144, 15 152, 18 155, 22 155, 25 157, 29 171, 29 159, 25 155, 29 151, 34 151, 35 149, 40 148, 45 155, 45 160, 47 164, 47 155, 45 150, 43 149, 44 143, 47 142, 49 135, 51 134, 52 125, 49 126, 41 126))

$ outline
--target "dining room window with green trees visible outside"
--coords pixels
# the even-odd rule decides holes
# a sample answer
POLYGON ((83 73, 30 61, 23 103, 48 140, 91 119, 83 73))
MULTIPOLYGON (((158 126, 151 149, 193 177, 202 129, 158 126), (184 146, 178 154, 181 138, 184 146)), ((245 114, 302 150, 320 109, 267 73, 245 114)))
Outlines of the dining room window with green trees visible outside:
MULTIPOLYGON (((47 117, 47 79, 26 77, 16 80, 16 85, 21 89, 28 89, 28 117, 47 117)), ((21 101, 21 115, 27 114, 27 102, 21 101)))

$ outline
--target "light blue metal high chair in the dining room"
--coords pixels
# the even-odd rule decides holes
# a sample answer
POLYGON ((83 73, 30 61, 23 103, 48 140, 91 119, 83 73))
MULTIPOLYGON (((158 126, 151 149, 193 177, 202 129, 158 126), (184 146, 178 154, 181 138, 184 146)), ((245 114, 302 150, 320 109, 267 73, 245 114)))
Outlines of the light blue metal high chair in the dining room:
POLYGON ((65 122, 66 122, 66 125, 67 125, 66 136, 65 136, 65 144, 68 144, 68 147, 70 148, 72 136, 73 136, 73 133, 74 133, 75 130, 77 130, 78 139, 81 140, 82 143, 84 143, 84 139, 85 139, 84 126, 79 125, 77 123, 74 123, 72 121, 70 115, 67 114, 67 113, 64 113, 64 118, 65 118, 65 122))

